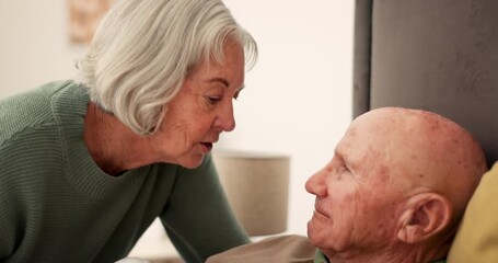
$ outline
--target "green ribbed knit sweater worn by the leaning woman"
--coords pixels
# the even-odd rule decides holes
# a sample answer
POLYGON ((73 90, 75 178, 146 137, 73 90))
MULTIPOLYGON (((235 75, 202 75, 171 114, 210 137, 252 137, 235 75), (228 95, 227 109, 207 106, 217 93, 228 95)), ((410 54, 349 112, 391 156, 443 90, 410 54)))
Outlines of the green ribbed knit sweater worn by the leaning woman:
POLYGON ((159 216, 186 262, 248 239, 210 156, 105 174, 83 142, 89 96, 72 81, 0 101, 0 262, 115 262, 159 216))

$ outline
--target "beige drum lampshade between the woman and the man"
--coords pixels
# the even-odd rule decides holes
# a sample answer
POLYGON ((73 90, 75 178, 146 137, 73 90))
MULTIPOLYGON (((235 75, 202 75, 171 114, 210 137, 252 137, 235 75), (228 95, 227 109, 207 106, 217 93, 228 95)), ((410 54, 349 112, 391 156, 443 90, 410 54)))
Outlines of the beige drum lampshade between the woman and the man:
POLYGON ((213 160, 236 218, 247 235, 287 230, 290 157, 215 151, 213 160))

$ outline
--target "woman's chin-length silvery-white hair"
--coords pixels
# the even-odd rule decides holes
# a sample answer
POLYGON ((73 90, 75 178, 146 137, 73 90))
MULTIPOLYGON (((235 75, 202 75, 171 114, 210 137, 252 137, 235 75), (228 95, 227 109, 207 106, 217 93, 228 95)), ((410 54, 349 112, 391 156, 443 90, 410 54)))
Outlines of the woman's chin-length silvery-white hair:
POLYGON ((254 38, 221 0, 121 0, 103 19, 77 81, 102 110, 141 135, 157 130, 165 105, 201 61, 222 61, 228 41, 257 57, 254 38))

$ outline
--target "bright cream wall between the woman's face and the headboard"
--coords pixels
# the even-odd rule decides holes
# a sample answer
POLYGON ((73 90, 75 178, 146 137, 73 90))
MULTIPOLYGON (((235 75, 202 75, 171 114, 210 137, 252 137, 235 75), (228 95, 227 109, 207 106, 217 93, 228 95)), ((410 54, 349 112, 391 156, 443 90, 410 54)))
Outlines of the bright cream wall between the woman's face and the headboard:
POLYGON ((329 161, 351 116, 354 1, 225 0, 259 45, 221 147, 291 157, 289 229, 306 233, 306 179, 329 161))

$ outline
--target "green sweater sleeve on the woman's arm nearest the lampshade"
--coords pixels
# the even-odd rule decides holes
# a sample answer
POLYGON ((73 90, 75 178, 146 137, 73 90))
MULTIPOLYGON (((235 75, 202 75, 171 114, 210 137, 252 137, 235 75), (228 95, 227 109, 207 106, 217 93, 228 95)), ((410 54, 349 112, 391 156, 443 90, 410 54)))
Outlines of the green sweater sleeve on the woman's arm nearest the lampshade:
POLYGON ((211 156, 197 169, 181 169, 162 224, 186 262, 248 243, 232 213, 211 156))

